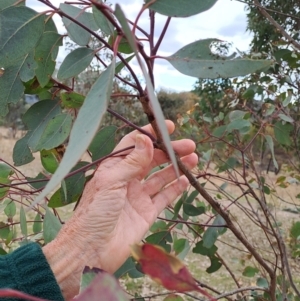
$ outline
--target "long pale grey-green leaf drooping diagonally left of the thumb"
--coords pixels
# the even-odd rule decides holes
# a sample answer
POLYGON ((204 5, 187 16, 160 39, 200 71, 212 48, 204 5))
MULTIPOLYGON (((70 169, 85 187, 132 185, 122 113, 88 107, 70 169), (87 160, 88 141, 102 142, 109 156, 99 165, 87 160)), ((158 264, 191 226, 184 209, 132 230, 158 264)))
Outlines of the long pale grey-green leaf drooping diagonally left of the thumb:
POLYGON ((93 84, 74 122, 65 155, 55 174, 32 206, 41 202, 48 193, 60 184, 88 148, 106 112, 112 91, 114 71, 115 60, 93 84))

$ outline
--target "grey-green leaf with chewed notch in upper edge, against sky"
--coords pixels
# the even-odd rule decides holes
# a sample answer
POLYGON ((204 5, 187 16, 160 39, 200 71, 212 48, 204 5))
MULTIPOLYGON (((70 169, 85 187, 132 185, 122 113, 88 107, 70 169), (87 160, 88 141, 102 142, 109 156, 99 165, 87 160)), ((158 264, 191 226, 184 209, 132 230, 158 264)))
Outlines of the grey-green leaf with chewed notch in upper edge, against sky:
POLYGON ((252 60, 218 56, 210 46, 217 39, 205 39, 188 44, 173 55, 166 57, 179 72, 196 78, 214 79, 243 76, 270 67, 271 60, 252 60))

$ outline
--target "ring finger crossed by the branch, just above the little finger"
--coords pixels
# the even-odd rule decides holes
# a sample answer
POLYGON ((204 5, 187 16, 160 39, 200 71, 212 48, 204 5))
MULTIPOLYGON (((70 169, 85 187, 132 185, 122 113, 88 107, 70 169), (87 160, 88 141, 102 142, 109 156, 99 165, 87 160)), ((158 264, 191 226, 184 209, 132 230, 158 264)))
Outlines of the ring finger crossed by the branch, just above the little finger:
MULTIPOLYGON (((196 154, 189 154, 182 158, 183 164, 188 168, 194 168, 198 163, 198 157, 196 154)), ((150 196, 154 196, 161 191, 163 187, 171 183, 176 179, 176 174, 172 165, 152 174, 143 183, 143 190, 150 196)))

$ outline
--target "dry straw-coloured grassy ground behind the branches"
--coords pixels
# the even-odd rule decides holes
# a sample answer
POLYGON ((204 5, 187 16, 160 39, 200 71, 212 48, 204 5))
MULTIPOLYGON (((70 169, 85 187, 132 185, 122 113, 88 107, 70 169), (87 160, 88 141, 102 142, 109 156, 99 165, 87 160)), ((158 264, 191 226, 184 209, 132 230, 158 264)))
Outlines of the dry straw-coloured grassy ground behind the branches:
MULTIPOLYGON (((20 133, 19 133, 20 134, 20 133)), ((0 128, 0 157, 3 160, 6 160, 9 163, 12 162, 11 154, 12 148, 15 139, 9 137, 9 133, 6 129, 0 128)), ((36 176, 38 172, 42 171, 42 166, 40 164, 38 156, 36 159, 26 166, 20 167, 22 172, 25 172, 26 175, 36 176)), ((287 174, 288 175, 288 174, 287 174)), ((299 221, 299 214, 292 212, 287 212, 285 209, 295 209, 295 206, 300 206, 299 199, 295 196, 299 193, 299 185, 297 183, 291 183, 288 188, 280 188, 276 184, 276 179, 278 176, 275 176, 273 173, 269 175, 264 175, 266 177, 266 182, 270 184, 270 187, 276 189, 277 196, 275 197, 270 194, 267 198, 267 203, 273 216, 276 218, 277 223, 280 223, 280 231, 284 238, 286 244, 289 244, 289 229, 293 222, 299 221)), ((222 181, 214 179, 214 184, 216 186, 221 186, 222 181)), ((213 185, 207 186, 208 189, 215 190, 213 185)), ((228 185, 226 187, 226 192, 229 196, 235 198, 239 196, 240 191, 235 185, 228 185)), ((245 199, 241 199, 240 203, 246 208, 248 205, 245 199)), ((220 200, 221 206, 229 206, 230 201, 223 199, 220 200)), ((263 218, 262 213, 259 210, 259 206, 255 203, 254 200, 251 201, 251 205, 257 209, 258 215, 263 218)), ((64 220, 66 220, 72 214, 73 205, 59 209, 59 214, 64 220)), ((236 221, 237 225, 243 229, 246 237, 249 241, 259 250, 262 256, 266 258, 270 257, 273 259, 272 249, 269 242, 266 239, 266 236, 261 231, 261 228, 256 227, 249 218, 244 214, 244 212, 239 209, 237 206, 230 206, 230 214, 233 219, 236 221)), ((29 218, 33 218, 33 215, 30 215, 29 218)), ((202 217, 201 217, 202 218, 202 217)), ((207 217, 200 222, 205 222, 207 217)), ((6 217, 3 213, 0 212, 0 222, 6 221, 6 217)), ((186 236, 190 238, 191 249, 194 246, 194 243, 197 239, 194 239, 190 234, 187 233, 187 229, 184 228, 184 231, 178 233, 182 237, 186 236)), ((207 257, 202 255, 195 255, 192 252, 189 252, 185 258, 185 263, 191 271, 192 275, 199 281, 208 284, 209 286, 215 288, 220 293, 233 290, 237 287, 236 283, 232 280, 230 273, 233 273, 241 286, 253 286, 256 285, 256 278, 248 278, 242 275, 242 272, 245 266, 257 266, 253 258, 246 252, 246 249, 237 241, 234 235, 227 231, 223 236, 220 237, 217 242, 218 253, 220 257, 224 260, 227 265, 227 269, 223 267, 213 274, 206 273, 206 268, 210 265, 210 261, 207 257)), ((290 250, 288 250, 290 254, 290 250)), ((290 258, 291 270, 294 275, 294 281, 298 288, 300 288, 300 263, 297 259, 290 258)), ((260 276, 264 276, 262 271, 259 272, 260 276)), ((155 284, 152 280, 149 280, 147 277, 145 279, 130 279, 126 278, 122 281, 123 286, 132 294, 135 293, 141 294, 143 296, 149 296, 152 294, 157 294, 158 292, 164 292, 164 290, 155 284)), ((196 295, 199 298, 199 295, 196 295)), ((185 300, 193 300, 191 297, 185 296, 185 300)), ((163 296, 157 296, 151 298, 151 300, 163 300, 163 296)))

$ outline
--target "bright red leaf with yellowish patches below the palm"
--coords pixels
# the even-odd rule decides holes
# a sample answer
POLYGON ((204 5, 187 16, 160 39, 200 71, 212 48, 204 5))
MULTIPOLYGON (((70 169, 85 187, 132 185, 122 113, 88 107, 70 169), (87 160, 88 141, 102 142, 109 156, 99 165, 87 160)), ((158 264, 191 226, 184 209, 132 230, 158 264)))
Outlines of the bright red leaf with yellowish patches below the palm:
POLYGON ((168 290, 178 292, 198 291, 212 301, 216 301, 205 290, 198 287, 193 276, 175 256, 161 247, 144 244, 131 248, 133 257, 140 263, 145 274, 168 290))

